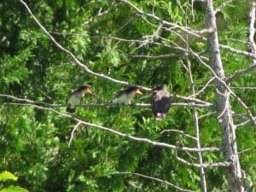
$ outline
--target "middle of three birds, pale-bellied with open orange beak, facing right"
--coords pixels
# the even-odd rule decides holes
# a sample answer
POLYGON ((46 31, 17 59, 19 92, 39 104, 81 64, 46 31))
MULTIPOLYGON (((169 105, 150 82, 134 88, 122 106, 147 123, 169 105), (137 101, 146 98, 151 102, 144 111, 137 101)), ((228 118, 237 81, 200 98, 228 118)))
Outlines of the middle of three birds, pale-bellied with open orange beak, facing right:
POLYGON ((130 86, 128 88, 118 90, 115 93, 115 98, 113 99, 113 103, 128 105, 131 104, 131 100, 136 94, 143 95, 142 91, 138 86, 130 86))

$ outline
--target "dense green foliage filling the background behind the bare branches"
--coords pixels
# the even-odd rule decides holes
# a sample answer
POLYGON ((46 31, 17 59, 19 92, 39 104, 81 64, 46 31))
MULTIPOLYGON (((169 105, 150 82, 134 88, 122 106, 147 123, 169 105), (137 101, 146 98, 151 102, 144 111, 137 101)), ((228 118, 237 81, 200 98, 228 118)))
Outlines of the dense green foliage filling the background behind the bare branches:
MULTIPOLYGON (((212 78, 206 67, 182 49, 193 49, 208 56, 207 42, 188 36, 176 27, 168 31, 160 23, 144 15, 137 15, 125 3, 116 1, 38 0, 26 1, 33 14, 58 43, 72 51, 79 61, 93 72, 103 73, 131 84, 153 87, 166 84, 175 95, 190 96, 189 74, 183 65, 191 63, 196 92, 212 78), (179 35, 177 35, 177 33, 179 35), (152 36, 154 34, 154 37, 152 36), (111 38, 110 38, 111 37, 111 38), (114 38, 117 37, 117 38, 114 38), (126 39, 125 41, 122 39, 126 39), (131 40, 136 39, 137 42, 131 40), (144 44, 142 44, 142 42, 144 44), (164 44, 164 45, 156 45, 164 44), (182 49, 179 49, 182 48, 182 49), (161 55, 172 57, 156 58, 161 55)), ((214 1, 218 8, 224 0, 214 1)), ((162 20, 200 31, 205 28, 201 3, 192 8, 187 0, 133 1, 139 9, 159 16, 162 20), (193 10, 194 14, 192 14, 193 10), (186 13, 187 15, 185 15, 186 13), (187 16, 187 17, 185 17, 187 16)), ((216 15, 218 38, 221 44, 248 50, 247 14, 245 1, 229 3, 216 15)), ((203 34, 206 35, 207 34, 203 34)), ((76 65, 37 26, 19 1, 0 3, 0 93, 48 103, 65 103, 69 90, 79 84, 90 84, 96 96, 86 95, 86 102, 112 102, 114 92, 123 86, 106 79, 96 78, 76 65)), ((226 76, 251 65, 251 59, 227 50, 221 51, 226 76)), ((247 73, 232 82, 234 87, 255 86, 255 72, 247 73)), ((214 84, 209 84, 198 98, 216 102, 214 84)), ((248 106, 256 102, 252 90, 234 89, 248 106)), ((149 103, 150 93, 136 96, 133 102, 149 103)), ((17 183, 29 191, 82 192, 82 191, 177 191, 150 179, 119 174, 138 172, 159 177, 185 189, 200 190, 200 173, 197 168, 184 166, 175 158, 175 151, 146 143, 137 143, 108 131, 79 125, 70 148, 67 143, 77 122, 47 110, 14 104, 0 97, 0 170, 15 172, 17 183)), ((172 102, 183 100, 172 98, 172 102)), ((231 101, 234 113, 246 113, 236 101, 231 101)), ((65 113, 65 108, 55 108, 65 113)), ((255 108, 251 109, 255 114, 255 108)), ((212 112, 198 109, 199 115, 212 112)), ((195 141, 175 129, 195 135, 191 108, 173 106, 164 121, 153 118, 150 108, 135 106, 78 108, 74 117, 110 127, 135 137, 195 147, 195 141)), ((234 118, 239 124, 242 119, 234 118)), ((220 147, 222 131, 218 115, 201 118, 200 139, 203 147, 220 147)), ((251 125, 237 129, 237 143, 241 151, 241 166, 253 183, 256 183, 256 135, 251 125), (249 148, 249 150, 245 150, 249 148), (245 151, 243 151, 245 150, 245 151)), ((196 153, 178 152, 189 162, 196 161, 196 153)), ((203 160, 214 163, 224 160, 221 153, 204 153, 203 160)), ((10 172, 4 178, 15 180, 10 172)), ((209 191, 228 190, 226 170, 206 170, 209 191)), ((10 183, 2 191, 26 191, 10 183)))

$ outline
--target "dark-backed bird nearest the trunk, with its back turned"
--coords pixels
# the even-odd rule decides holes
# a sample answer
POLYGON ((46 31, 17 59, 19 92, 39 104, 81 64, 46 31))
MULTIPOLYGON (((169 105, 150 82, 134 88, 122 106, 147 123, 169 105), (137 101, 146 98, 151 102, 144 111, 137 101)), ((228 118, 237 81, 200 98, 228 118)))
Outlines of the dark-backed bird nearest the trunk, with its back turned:
POLYGON ((155 119, 165 119, 171 108, 171 96, 165 84, 154 86, 150 102, 155 119))

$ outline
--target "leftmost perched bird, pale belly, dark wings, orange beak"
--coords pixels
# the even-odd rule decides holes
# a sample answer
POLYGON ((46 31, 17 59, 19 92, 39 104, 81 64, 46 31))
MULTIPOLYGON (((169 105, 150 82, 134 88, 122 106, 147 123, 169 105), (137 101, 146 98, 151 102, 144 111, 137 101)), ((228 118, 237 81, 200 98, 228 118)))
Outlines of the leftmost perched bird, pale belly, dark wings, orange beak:
POLYGON ((78 89, 70 90, 66 99, 66 102, 67 102, 66 111, 70 113, 75 113, 76 106, 80 104, 85 93, 92 94, 92 92, 90 91, 89 85, 81 85, 79 86, 78 89))

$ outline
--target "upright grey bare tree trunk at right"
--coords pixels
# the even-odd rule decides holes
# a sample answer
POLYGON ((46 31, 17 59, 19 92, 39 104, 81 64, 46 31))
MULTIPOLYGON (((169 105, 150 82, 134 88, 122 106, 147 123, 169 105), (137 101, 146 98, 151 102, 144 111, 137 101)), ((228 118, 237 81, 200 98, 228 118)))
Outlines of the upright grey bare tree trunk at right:
POLYGON ((230 191, 242 192, 244 189, 242 187, 241 166, 236 146, 236 126, 233 123, 231 113, 230 93, 219 80, 224 81, 225 75, 219 50, 216 17, 212 0, 205 1, 205 13, 206 26, 208 29, 211 29, 208 36, 210 63, 214 73, 218 76, 218 79, 216 79, 217 113, 218 122, 223 131, 224 158, 230 161, 231 164, 228 172, 230 191))

